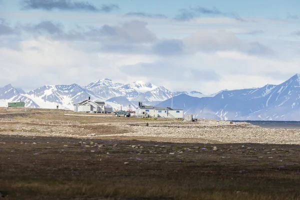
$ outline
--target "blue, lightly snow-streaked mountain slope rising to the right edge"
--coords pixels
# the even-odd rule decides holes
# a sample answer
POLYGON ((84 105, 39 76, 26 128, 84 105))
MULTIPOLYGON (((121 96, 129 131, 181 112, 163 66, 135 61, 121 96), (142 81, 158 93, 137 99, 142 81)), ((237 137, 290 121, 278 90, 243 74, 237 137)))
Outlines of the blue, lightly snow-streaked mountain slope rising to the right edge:
MULTIPOLYGON (((300 120, 299 102, 300 74, 279 85, 222 90, 213 97, 173 97, 173 107, 181 107, 197 118, 225 120, 300 120)), ((170 99, 158 106, 170 106, 170 99)))

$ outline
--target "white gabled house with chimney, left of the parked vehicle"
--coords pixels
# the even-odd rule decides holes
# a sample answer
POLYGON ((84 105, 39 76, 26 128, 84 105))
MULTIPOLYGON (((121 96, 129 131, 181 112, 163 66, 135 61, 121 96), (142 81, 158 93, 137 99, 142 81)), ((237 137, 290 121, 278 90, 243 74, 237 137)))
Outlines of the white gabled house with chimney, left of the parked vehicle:
POLYGON ((88 99, 74 104, 74 112, 106 113, 105 102, 92 101, 88 97, 88 99))

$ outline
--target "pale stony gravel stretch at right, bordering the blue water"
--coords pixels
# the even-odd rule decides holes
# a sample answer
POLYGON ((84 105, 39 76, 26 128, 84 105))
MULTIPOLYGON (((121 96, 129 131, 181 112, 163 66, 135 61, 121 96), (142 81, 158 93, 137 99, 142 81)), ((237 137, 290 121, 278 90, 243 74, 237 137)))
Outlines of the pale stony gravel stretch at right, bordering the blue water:
POLYGON ((300 144, 299 129, 262 128, 247 122, 230 124, 229 121, 200 120, 192 123, 152 123, 149 126, 138 123, 115 125, 130 127, 130 132, 115 134, 119 136, 202 138, 222 143, 300 144))

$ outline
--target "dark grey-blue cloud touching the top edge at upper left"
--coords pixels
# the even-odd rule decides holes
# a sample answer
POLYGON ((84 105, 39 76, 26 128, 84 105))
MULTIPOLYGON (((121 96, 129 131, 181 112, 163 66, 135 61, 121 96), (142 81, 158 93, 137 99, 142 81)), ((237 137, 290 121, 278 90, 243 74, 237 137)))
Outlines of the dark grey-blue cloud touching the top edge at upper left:
POLYGON ((86 1, 71 0, 22 0, 22 9, 44 9, 50 11, 52 9, 60 10, 85 10, 93 12, 110 12, 118 9, 116 4, 103 4, 100 8, 86 1))

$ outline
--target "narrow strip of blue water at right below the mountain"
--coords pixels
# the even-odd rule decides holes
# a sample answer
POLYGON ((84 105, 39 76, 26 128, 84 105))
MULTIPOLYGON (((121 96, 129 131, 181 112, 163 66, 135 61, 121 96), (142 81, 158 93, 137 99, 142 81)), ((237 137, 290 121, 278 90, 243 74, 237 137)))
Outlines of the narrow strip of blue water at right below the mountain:
MULTIPOLYGON (((236 121, 240 122, 240 121, 236 121)), ((263 128, 300 129, 300 121, 245 121, 263 128)))

